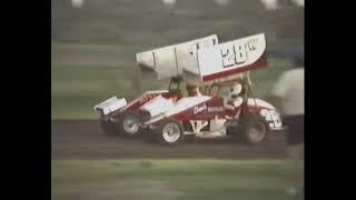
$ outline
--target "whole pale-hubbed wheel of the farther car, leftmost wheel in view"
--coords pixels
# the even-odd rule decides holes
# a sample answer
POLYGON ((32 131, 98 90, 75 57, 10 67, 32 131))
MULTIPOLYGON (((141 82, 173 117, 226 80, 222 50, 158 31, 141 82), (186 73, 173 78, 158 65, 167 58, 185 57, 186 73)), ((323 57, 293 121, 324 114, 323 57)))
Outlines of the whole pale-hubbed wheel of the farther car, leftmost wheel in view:
POLYGON ((138 113, 126 112, 119 118, 117 128, 122 136, 135 138, 140 134, 140 124, 141 119, 138 113))

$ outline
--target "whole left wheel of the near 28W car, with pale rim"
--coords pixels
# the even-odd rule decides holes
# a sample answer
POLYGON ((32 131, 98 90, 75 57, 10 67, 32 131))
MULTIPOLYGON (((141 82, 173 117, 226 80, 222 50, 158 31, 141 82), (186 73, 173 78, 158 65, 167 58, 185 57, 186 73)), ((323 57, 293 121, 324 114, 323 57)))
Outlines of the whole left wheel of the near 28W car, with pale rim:
POLYGON ((156 136, 160 143, 174 144, 182 140, 184 132, 180 123, 168 120, 157 128, 156 136))

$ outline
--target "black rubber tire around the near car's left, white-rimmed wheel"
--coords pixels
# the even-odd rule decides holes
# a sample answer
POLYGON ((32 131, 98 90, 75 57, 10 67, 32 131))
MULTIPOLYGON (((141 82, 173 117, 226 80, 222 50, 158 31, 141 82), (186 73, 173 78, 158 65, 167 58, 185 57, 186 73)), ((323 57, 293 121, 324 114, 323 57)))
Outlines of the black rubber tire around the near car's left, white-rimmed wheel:
POLYGON ((174 121, 174 120, 166 120, 161 124, 159 124, 159 127, 155 130, 155 136, 156 136, 156 141, 158 141, 159 143, 172 146, 172 144, 176 144, 176 143, 179 143, 182 141, 184 129, 179 122, 174 121), (174 139, 172 139, 172 141, 167 140, 167 137, 169 137, 169 136, 167 136, 166 130, 165 130, 165 129, 167 129, 167 126, 170 126, 171 128, 176 128, 176 131, 178 131, 177 133, 179 133, 179 137, 177 140, 174 140, 174 139))

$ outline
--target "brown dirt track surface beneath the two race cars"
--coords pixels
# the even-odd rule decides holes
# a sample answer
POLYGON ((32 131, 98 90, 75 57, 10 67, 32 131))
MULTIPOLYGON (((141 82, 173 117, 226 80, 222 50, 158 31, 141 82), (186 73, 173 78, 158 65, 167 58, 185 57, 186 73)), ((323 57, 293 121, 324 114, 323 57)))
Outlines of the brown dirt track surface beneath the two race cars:
POLYGON ((170 158, 285 158, 284 134, 263 146, 248 147, 228 140, 196 139, 174 147, 123 139, 103 133, 96 120, 52 120, 52 159, 170 159, 170 158))

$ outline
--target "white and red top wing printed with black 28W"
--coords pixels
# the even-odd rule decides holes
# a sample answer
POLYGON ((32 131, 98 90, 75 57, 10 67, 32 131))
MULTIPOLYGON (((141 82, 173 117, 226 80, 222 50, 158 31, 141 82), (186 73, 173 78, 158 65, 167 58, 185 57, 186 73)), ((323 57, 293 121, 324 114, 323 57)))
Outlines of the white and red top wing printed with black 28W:
POLYGON ((264 33, 228 41, 197 51, 197 66, 184 70, 200 78, 200 81, 226 81, 243 72, 267 66, 266 38, 264 33))

